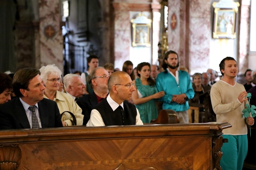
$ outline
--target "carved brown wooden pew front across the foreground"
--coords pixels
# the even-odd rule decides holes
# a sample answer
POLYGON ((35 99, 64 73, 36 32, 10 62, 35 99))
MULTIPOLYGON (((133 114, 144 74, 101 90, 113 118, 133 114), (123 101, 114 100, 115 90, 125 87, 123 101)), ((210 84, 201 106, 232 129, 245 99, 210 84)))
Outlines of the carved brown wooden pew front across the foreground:
POLYGON ((0 130, 1 170, 220 170, 229 123, 0 130))

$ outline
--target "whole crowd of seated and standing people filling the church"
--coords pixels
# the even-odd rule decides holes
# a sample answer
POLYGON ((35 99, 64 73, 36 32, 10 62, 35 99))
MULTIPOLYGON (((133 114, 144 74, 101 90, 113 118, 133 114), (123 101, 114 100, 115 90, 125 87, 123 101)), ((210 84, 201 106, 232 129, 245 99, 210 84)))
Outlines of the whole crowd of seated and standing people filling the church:
POLYGON ((90 55, 85 73, 63 78, 54 64, 40 70, 20 69, 13 80, 0 73, 0 129, 143 125, 156 119, 162 109, 176 111, 180 123, 188 123, 188 109, 193 106, 199 108, 200 123, 232 124, 223 130, 229 142, 222 146, 220 163, 223 169, 230 168, 230 162, 231 169, 242 169, 248 151, 246 126, 254 125, 252 117, 242 116, 248 92, 250 104, 256 105, 252 70, 246 71, 246 84, 241 85, 235 81, 238 66, 232 57, 220 62, 222 79, 217 82, 213 69, 195 73, 191 81, 187 69, 179 69, 178 53, 172 50, 164 55, 162 72, 147 62, 134 69, 131 61, 125 61, 119 71, 111 63, 99 67, 98 60, 90 55))

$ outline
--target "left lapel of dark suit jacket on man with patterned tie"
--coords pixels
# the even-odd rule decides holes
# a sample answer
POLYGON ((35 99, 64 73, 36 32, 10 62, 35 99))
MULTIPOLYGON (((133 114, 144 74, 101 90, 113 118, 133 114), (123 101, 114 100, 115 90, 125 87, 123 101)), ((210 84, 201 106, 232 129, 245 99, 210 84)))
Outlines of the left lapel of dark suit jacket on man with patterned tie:
POLYGON ((15 100, 16 100, 16 102, 15 102, 16 105, 14 106, 15 107, 14 114, 16 115, 18 121, 20 122, 20 124, 22 125, 23 128, 31 128, 29 121, 28 121, 26 111, 25 111, 22 103, 20 102, 20 98, 16 97, 15 100))

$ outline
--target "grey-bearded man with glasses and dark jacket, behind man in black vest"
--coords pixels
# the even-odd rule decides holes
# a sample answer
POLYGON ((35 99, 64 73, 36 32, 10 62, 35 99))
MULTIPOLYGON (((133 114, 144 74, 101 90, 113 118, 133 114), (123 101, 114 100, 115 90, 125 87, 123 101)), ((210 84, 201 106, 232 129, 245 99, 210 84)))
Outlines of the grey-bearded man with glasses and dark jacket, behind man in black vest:
POLYGON ((104 67, 95 68, 88 76, 87 81, 93 92, 89 95, 80 97, 76 103, 82 109, 84 115, 83 125, 90 119, 92 108, 100 103, 108 95, 109 73, 104 67))

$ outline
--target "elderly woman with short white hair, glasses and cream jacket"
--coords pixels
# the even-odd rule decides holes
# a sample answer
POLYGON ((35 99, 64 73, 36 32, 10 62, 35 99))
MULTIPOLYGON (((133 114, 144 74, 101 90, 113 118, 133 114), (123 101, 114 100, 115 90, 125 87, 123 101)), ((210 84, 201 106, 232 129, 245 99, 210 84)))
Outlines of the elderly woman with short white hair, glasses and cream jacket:
MULTIPOLYGON (((44 98, 56 101, 60 113, 70 111, 75 115, 77 125, 83 125, 84 115, 82 115, 82 109, 74 102, 74 99, 70 95, 58 91, 60 81, 62 81, 60 69, 55 64, 49 64, 41 67, 40 72, 40 77, 45 86, 44 98)), ((73 119, 70 114, 65 113, 62 116, 63 126, 71 126, 72 121, 73 119)))

